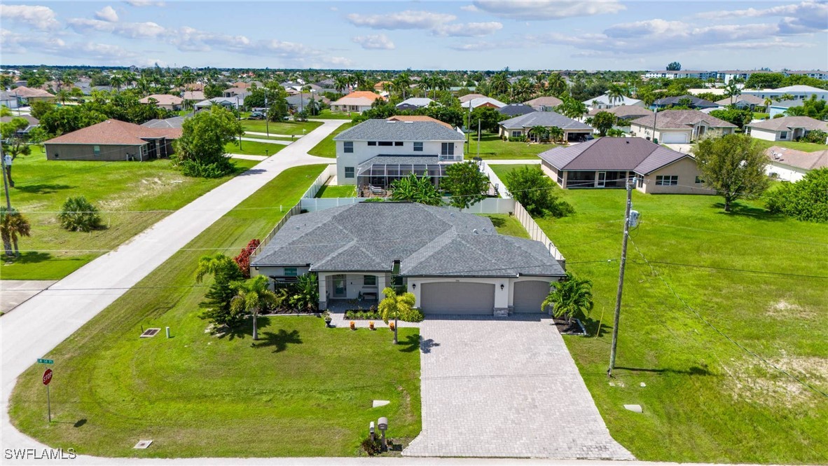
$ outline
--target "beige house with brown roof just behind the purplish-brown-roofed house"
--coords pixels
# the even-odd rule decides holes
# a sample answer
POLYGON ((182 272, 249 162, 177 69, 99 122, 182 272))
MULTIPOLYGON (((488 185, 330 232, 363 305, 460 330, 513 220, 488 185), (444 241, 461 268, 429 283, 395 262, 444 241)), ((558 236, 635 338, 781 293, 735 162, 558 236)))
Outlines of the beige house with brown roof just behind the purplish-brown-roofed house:
POLYGON ((734 132, 736 125, 711 117, 699 110, 662 110, 637 118, 629 124, 630 134, 662 144, 687 144, 710 131, 724 135, 734 132), (653 125, 656 126, 653 131, 653 125))

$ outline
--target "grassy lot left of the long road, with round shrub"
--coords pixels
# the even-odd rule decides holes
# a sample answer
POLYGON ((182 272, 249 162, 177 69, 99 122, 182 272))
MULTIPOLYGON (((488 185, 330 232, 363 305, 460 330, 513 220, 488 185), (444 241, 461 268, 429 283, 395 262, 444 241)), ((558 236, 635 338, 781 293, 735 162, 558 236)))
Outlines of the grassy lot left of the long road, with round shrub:
MULTIPOLYGON (((181 175, 169 159, 136 161, 47 161, 41 147, 14 161, 12 206, 31 223, 20 239, 22 257, 0 265, 3 280, 58 280, 118 247, 170 212, 189 204, 232 176, 215 180, 181 175), (56 212, 70 196, 84 195, 101 210, 106 228, 92 233, 60 228, 56 212), (140 210, 152 212, 123 212, 140 210), (159 212, 160 211, 160 212, 159 212)), ((234 161, 241 173, 256 161, 234 161)))

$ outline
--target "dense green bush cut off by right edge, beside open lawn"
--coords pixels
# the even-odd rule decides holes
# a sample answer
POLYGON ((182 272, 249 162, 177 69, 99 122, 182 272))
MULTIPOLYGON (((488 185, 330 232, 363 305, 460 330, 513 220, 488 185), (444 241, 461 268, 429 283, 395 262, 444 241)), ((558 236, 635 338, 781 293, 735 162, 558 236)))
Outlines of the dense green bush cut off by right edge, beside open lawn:
POLYGON ((796 183, 782 183, 766 195, 766 207, 806 222, 828 222, 828 168, 808 172, 796 183))

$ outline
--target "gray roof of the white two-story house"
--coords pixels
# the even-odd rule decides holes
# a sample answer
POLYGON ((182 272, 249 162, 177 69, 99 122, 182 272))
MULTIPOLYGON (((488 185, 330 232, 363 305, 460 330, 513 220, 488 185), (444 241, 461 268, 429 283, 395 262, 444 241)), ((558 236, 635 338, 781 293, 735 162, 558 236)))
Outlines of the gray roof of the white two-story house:
POLYGON ((440 123, 372 119, 340 132, 334 141, 465 141, 465 137, 440 123))

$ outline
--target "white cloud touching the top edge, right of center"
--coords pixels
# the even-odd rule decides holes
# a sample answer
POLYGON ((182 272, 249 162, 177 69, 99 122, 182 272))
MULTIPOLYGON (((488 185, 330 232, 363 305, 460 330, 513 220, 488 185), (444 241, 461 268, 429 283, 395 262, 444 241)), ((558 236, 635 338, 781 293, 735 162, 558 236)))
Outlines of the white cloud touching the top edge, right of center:
POLYGON ((587 17, 627 9, 618 0, 474 0, 474 7, 498 17, 529 21, 587 17))

